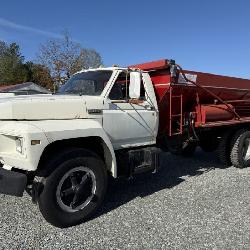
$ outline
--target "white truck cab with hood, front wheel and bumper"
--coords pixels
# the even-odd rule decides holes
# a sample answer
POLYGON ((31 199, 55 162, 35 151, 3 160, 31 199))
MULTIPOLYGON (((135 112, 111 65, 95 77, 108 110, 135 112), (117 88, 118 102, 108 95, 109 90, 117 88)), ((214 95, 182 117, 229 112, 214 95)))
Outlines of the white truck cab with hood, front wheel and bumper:
POLYGON ((98 68, 55 95, 0 99, 0 192, 26 189, 47 221, 67 227, 102 203, 107 175, 158 167, 158 106, 147 72, 98 68))

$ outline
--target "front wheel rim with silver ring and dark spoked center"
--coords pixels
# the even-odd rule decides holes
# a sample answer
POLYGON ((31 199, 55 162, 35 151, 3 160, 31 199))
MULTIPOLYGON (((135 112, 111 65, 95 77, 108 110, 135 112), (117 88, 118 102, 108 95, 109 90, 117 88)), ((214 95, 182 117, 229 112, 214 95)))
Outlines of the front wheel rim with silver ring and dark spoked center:
POLYGON ((85 208, 96 193, 94 172, 87 167, 76 167, 64 174, 56 189, 58 205, 66 212, 85 208))

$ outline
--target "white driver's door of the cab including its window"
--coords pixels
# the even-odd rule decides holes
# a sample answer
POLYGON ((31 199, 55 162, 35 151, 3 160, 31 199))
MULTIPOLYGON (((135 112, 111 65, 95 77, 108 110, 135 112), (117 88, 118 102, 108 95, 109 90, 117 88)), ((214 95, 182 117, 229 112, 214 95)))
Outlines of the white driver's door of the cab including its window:
POLYGON ((157 110, 141 78, 140 98, 129 98, 130 74, 120 72, 103 110, 103 128, 115 149, 155 143, 157 110))

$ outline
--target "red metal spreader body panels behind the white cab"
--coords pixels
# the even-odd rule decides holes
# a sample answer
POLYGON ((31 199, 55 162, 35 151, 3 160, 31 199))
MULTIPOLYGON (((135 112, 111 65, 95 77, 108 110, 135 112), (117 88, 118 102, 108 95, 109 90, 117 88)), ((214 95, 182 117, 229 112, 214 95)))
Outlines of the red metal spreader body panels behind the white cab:
MULTIPOLYGON (((179 112, 179 103, 172 96, 182 95, 182 119, 190 112, 196 114, 196 126, 218 126, 228 123, 239 122, 232 112, 228 112, 227 106, 221 106, 211 94, 192 84, 178 84, 178 76, 170 77, 169 61, 166 59, 129 66, 149 71, 160 112, 160 134, 169 134, 169 121, 171 112, 179 112), (173 84, 170 85, 172 81, 173 84), (169 107, 172 107, 170 112, 169 107), (224 121, 223 121, 224 120, 224 121)), ((250 119, 250 80, 214 75, 210 73, 184 71, 186 74, 197 75, 196 83, 212 91, 223 101, 227 101, 241 117, 240 121, 250 119), (242 104, 242 100, 246 100, 242 104), (248 101, 247 101, 248 100, 248 101), (233 102, 232 102, 233 101, 233 102)))

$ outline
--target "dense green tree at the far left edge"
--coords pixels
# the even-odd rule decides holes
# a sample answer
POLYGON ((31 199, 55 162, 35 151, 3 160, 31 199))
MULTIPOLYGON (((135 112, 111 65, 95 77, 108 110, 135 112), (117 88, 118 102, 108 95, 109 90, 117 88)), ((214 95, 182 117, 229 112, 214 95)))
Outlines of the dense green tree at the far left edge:
POLYGON ((0 42, 0 84, 16 84, 27 80, 27 71, 23 65, 24 57, 16 43, 7 45, 0 42))

